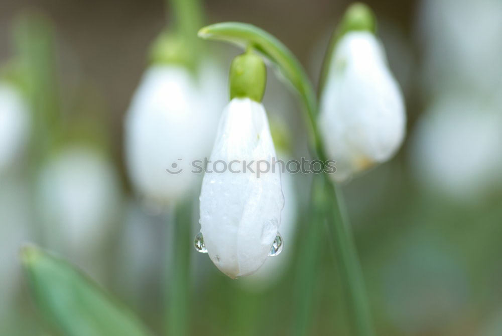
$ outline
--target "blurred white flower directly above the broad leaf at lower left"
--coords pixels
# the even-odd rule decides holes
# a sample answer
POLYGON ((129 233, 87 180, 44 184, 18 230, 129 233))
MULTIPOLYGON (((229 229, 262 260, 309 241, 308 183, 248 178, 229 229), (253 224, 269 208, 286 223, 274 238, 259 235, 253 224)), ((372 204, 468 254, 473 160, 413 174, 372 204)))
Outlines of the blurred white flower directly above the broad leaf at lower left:
POLYGON ((51 248, 99 272, 92 256, 102 252, 120 206, 116 172, 105 157, 77 145, 57 153, 41 169, 37 203, 51 248))

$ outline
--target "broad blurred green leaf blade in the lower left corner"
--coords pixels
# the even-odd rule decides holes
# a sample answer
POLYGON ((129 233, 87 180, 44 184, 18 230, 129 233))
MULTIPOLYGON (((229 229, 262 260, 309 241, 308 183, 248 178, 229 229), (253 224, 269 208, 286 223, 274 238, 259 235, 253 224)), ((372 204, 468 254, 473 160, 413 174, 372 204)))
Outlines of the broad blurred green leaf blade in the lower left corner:
POLYGON ((68 336, 145 336, 141 321, 62 259, 27 246, 21 260, 40 310, 68 336))

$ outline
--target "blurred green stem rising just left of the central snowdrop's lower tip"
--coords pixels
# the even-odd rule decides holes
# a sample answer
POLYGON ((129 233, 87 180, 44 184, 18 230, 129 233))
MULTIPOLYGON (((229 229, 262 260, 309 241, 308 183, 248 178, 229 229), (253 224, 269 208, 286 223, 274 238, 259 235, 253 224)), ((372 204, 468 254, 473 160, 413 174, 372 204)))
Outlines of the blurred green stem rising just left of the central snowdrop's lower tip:
POLYGON ((167 249, 169 274, 167 274, 166 332, 168 336, 185 336, 189 334, 190 253, 193 240, 190 204, 178 206, 174 217, 171 248, 167 249))

